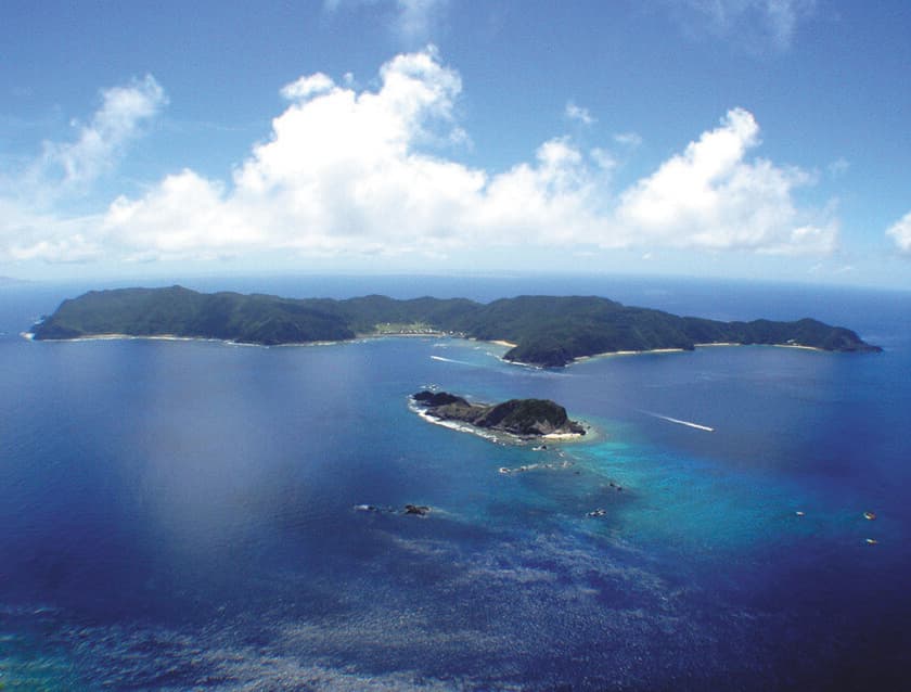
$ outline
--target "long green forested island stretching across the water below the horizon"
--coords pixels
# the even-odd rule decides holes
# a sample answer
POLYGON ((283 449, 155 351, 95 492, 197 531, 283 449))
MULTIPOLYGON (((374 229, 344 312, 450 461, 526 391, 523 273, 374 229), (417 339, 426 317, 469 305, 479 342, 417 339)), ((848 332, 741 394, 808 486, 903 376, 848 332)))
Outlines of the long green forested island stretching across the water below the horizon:
POLYGON ((709 344, 766 344, 832 351, 882 350, 843 326, 795 322, 721 322, 627 307, 598 296, 518 296, 397 300, 382 295, 335 300, 182 286, 91 291, 64 300, 33 326, 36 339, 105 335, 215 338, 243 344, 306 344, 365 335, 453 335, 510 347, 503 358, 543 368, 610 353, 692 350, 709 344))

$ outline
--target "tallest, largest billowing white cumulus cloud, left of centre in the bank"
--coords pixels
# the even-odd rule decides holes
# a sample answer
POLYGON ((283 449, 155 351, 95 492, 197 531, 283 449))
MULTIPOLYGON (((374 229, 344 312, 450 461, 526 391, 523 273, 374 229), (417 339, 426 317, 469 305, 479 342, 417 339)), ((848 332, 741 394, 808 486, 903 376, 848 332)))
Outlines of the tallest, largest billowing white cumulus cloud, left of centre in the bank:
POLYGON ((408 252, 451 242, 484 175, 416 144, 458 130, 461 80, 427 49, 389 61, 381 81, 360 93, 322 75, 295 81, 282 91, 296 101, 230 189, 183 171, 142 200, 118 201, 106 228, 124 246, 141 242, 168 256, 408 252))

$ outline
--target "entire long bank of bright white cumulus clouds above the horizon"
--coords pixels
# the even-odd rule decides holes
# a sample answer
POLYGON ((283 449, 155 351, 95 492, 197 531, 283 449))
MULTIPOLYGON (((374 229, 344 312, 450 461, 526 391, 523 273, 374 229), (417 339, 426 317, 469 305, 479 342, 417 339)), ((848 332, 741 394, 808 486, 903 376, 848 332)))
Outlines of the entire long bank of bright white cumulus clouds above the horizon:
POLYGON ((729 112, 652 175, 615 191, 610 150, 583 151, 569 137, 497 174, 445 156, 463 139, 462 81, 434 48, 395 56, 377 85, 358 90, 318 73, 285 86, 290 104, 271 136, 229 180, 182 170, 82 218, 8 201, 0 257, 439 256, 566 244, 826 253, 835 245, 835 223, 794 203, 794 190, 812 178, 749 158, 759 128, 746 111, 729 112))

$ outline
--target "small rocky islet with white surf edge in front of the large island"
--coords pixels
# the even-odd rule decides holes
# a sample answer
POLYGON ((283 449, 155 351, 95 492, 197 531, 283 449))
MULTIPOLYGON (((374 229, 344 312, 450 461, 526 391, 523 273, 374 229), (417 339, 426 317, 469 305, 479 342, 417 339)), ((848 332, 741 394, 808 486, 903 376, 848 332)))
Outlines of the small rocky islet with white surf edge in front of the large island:
POLYGON ((467 423, 473 427, 518 437, 580 437, 586 434, 581 424, 569 420, 565 408, 550 399, 471 403, 448 392, 427 389, 411 395, 411 399, 435 420, 467 423))

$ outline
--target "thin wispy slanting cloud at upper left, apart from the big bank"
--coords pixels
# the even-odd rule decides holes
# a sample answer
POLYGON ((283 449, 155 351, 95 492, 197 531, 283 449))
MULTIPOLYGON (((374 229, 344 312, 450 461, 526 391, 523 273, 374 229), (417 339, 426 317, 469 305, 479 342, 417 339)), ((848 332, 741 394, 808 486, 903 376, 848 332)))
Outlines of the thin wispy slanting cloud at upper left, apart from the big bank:
POLYGON ((59 171, 64 184, 90 183, 113 167, 142 124, 167 103, 164 89, 151 75, 126 87, 106 89, 101 97, 101 108, 79 128, 75 142, 44 143, 43 175, 59 171))

